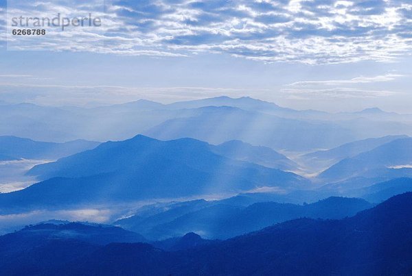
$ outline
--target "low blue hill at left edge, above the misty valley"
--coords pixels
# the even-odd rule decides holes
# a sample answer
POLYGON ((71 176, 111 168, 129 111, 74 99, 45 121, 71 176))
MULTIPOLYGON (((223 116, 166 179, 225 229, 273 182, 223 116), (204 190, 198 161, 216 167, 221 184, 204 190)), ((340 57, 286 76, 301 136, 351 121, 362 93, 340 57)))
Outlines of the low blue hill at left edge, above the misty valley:
POLYGON ((0 156, 10 159, 49 159, 56 160, 97 147, 100 142, 74 140, 54 143, 38 142, 15 136, 0 136, 0 156))

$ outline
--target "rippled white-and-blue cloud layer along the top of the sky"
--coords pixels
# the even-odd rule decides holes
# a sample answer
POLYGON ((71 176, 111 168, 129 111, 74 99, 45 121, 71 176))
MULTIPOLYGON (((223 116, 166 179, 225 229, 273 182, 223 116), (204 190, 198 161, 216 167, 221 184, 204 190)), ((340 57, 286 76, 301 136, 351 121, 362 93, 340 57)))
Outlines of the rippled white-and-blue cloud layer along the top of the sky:
POLYGON ((227 53, 307 64, 389 62, 412 49, 409 0, 111 0, 105 14, 104 34, 76 29, 67 34, 76 42, 62 45, 49 36, 46 45, 122 55, 227 53), (96 47, 100 40, 104 46, 96 47))

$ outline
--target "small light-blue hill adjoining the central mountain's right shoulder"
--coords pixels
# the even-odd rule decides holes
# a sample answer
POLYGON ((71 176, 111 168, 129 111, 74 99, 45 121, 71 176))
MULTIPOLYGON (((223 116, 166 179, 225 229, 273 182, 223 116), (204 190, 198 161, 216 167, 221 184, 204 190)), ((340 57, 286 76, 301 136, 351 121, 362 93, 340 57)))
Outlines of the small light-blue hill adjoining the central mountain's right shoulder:
POLYGON ((251 162, 268 168, 279 168, 282 171, 294 171, 299 168, 298 164, 271 148, 253 146, 239 140, 211 146, 211 151, 234 160, 251 162))

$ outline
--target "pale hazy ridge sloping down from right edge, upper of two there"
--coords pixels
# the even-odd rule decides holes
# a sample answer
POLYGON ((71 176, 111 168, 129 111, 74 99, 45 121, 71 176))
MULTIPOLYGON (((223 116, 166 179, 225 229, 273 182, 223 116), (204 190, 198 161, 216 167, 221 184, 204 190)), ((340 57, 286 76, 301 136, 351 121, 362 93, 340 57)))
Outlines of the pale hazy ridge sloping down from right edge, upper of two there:
POLYGON ((350 142, 339 147, 315 151, 313 153, 308 153, 301 156, 301 159, 304 160, 307 164, 313 167, 322 167, 322 166, 332 166, 336 162, 339 162, 345 158, 352 158, 360 153, 365 151, 370 151, 379 147, 387 142, 397 140, 400 138, 408 138, 408 136, 385 136, 382 138, 368 138, 365 140, 359 140, 355 142, 350 142))

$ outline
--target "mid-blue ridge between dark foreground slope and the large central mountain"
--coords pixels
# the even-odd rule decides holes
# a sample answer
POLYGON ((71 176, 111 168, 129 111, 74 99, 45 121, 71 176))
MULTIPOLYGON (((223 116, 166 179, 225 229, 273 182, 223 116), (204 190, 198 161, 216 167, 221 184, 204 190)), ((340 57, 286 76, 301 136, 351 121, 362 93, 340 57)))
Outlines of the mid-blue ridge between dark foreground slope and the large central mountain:
MULTIPOLYGON (((344 185, 344 184, 341 184, 344 185)), ((146 205, 115 225, 147 238, 181 236, 194 231, 206 238, 230 238, 293 218, 344 218, 395 195, 412 191, 412 178, 362 187, 297 190, 290 193, 249 193, 219 201, 194 200, 146 205), (335 195, 335 197, 330 197, 335 195), (347 197, 336 197, 336 195, 347 197), (319 198, 325 198, 317 201, 319 198), (366 200, 366 201, 365 201, 366 200), (304 201, 313 202, 306 204, 304 201), (369 203, 369 202, 371 203, 369 203)))

